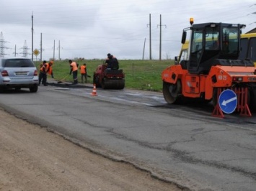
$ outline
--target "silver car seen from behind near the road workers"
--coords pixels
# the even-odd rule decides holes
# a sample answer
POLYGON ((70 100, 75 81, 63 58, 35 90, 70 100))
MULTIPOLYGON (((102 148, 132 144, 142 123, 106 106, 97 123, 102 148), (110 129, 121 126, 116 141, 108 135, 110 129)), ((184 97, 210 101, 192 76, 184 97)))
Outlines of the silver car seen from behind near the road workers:
POLYGON ((9 88, 29 88, 30 92, 37 92, 37 68, 30 58, 0 57, 0 90, 9 88))

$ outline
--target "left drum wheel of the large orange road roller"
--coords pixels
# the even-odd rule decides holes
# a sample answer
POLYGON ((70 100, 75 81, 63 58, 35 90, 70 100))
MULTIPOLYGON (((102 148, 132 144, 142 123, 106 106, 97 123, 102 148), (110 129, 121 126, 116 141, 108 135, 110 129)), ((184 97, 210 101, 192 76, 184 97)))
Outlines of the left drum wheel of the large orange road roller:
POLYGON ((177 83, 163 83, 164 99, 167 103, 178 103, 180 101, 179 95, 181 93, 181 83, 177 80, 177 83))

